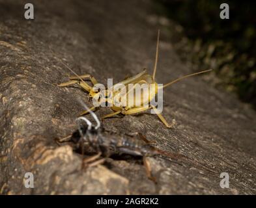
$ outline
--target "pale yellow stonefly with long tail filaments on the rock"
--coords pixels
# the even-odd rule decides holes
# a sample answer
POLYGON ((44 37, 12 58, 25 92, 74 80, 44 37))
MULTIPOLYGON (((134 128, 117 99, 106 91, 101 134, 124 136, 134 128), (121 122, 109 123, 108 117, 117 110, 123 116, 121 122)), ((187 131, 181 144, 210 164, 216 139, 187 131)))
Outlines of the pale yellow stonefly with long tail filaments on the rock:
MULTIPOLYGON (((164 125, 166 127, 172 127, 172 125, 169 124, 165 120, 164 116, 162 116, 162 114, 156 108, 156 106, 152 105, 152 103, 151 103, 152 99, 155 99, 155 97, 158 94, 160 89, 163 89, 163 88, 166 88, 167 86, 173 85, 174 83, 177 83, 178 81, 185 79, 187 77, 192 77, 193 75, 210 72, 211 70, 205 70, 205 71, 201 71, 201 72, 197 72, 197 73, 192 73, 192 74, 180 77, 178 79, 175 79, 174 81, 171 81, 165 85, 161 85, 161 86, 158 85, 158 83, 156 83, 155 77, 156 77, 156 68, 157 68, 157 63, 158 63, 159 37, 160 37, 160 31, 158 30, 158 40, 157 40, 157 44, 156 44, 156 59, 155 59, 155 63, 154 63, 153 74, 150 75, 149 73, 147 73, 147 70, 143 70, 143 72, 138 73, 137 75, 134 75, 133 77, 124 79, 124 81, 121 81, 120 83, 113 85, 113 87, 111 89, 107 89, 106 92, 104 92, 104 95, 107 98, 107 102, 111 103, 111 109, 113 110, 113 112, 103 116, 102 118, 109 118, 109 117, 115 116, 117 114, 132 115, 132 114, 145 112, 145 110, 152 109, 154 111, 154 114, 156 114, 158 116, 158 118, 160 118, 160 120, 164 123, 164 125), (126 102, 124 103, 124 105, 115 105, 115 102, 113 100, 109 99, 109 97, 116 98, 117 96, 120 96, 120 92, 123 91, 122 89, 119 88, 120 85, 123 86, 124 92, 127 92, 127 93, 121 94, 121 99, 123 98, 124 100, 126 100, 126 102), (135 96, 132 96, 133 101, 130 102, 129 99, 131 99, 131 98, 129 96, 129 92, 131 92, 131 90, 134 90, 134 89, 130 89, 128 87, 129 85, 134 85, 134 87, 137 85, 148 85, 148 90, 146 92, 143 92, 143 94, 139 94, 139 96, 137 96, 137 94, 135 94, 135 96), (154 87, 151 87, 151 86, 154 86, 154 87), (117 89, 117 90, 115 90, 115 89, 117 89), (143 96, 143 98, 141 96, 143 96), (144 99, 144 98, 147 98, 147 99, 144 99), (127 103, 139 103, 139 105, 137 105, 137 104, 136 105, 135 104, 134 105, 126 105, 127 103)), ((89 75, 89 74, 78 75, 71 68, 69 68, 63 61, 60 60, 60 62, 62 64, 64 64, 64 66, 66 66, 66 68, 68 68, 68 70, 70 70, 70 72, 74 73, 74 76, 69 77, 70 81, 68 81, 66 83, 61 83, 58 86, 65 87, 65 86, 70 86, 70 85, 76 84, 76 85, 81 86, 81 88, 83 88, 83 90, 85 90, 86 92, 89 93, 89 98, 94 98, 94 96, 96 96, 96 98, 101 97, 102 92, 98 92, 98 90, 95 90, 95 88, 94 88, 94 86, 98 84, 98 81, 96 81, 96 79, 92 75, 89 75), (90 86, 89 84, 87 84, 85 82, 86 79, 90 79, 93 86, 90 86)), ((105 103, 105 102, 106 102, 106 99, 103 100, 103 103, 105 103)), ((93 106, 90 110, 94 110, 97 107, 98 106, 93 106)), ((81 115, 87 114, 87 113, 88 113, 88 110, 85 110, 81 113, 81 115)))

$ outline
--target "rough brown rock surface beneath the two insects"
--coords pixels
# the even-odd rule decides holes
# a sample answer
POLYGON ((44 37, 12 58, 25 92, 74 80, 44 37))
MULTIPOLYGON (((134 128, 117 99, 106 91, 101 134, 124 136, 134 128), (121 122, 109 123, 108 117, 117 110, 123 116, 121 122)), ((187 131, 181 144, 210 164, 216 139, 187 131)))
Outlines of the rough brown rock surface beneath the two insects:
MULTIPOLYGON (((162 29, 158 83, 190 73, 167 38, 165 21, 150 1, 31 1, 35 20, 23 18, 25 1, 0 1, 1 194, 255 194, 256 114, 234 96, 193 77, 164 91, 167 129, 152 114, 104 121, 118 133, 141 132, 165 151, 190 161, 149 158, 155 184, 135 159, 108 159, 80 170, 81 155, 55 138, 76 130, 79 88, 67 81, 63 59, 75 72, 106 84, 152 69, 156 31, 162 29), (57 58, 56 58, 57 57, 57 58), (33 172, 35 188, 25 188, 33 172), (220 173, 229 173, 229 188, 220 173)), ((175 25, 171 27, 175 32, 175 25)), ((102 108, 98 116, 110 112, 102 108)))

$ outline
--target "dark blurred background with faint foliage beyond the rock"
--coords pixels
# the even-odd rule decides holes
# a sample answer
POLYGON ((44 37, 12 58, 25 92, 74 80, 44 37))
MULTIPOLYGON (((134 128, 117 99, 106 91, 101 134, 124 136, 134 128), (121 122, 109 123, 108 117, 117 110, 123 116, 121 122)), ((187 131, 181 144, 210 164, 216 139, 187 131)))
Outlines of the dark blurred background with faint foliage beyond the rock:
POLYGON ((188 42, 179 49, 193 53, 186 53, 184 59, 214 69, 216 86, 235 92, 255 109, 255 1, 157 0, 155 3, 158 13, 177 21, 182 34, 188 37, 188 42), (221 3, 229 5, 229 19, 220 19, 221 3))

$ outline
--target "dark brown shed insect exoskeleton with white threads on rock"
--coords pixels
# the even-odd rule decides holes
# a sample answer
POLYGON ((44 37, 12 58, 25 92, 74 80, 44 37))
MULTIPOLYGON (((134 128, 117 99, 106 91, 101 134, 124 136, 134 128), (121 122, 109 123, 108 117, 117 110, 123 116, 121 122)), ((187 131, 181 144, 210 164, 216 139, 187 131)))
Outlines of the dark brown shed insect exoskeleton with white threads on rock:
POLYGON ((57 139, 57 143, 74 143, 75 146, 73 146, 73 148, 81 150, 82 168, 102 164, 108 157, 115 154, 139 156, 143 159, 147 177, 156 182, 156 178, 153 177, 151 173, 152 169, 148 157, 164 156, 177 161, 182 157, 182 155, 167 153, 155 148, 141 133, 119 135, 113 131, 107 131, 102 128, 100 120, 98 120, 96 114, 94 114, 83 101, 80 100, 80 103, 91 114, 92 118, 94 118, 96 125, 92 124, 92 122, 85 118, 85 116, 79 116, 76 119, 78 131, 75 131, 72 135, 57 139), (84 158, 86 155, 85 153, 91 153, 92 156, 84 158))

